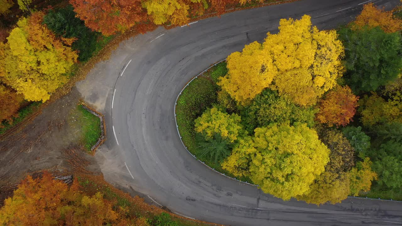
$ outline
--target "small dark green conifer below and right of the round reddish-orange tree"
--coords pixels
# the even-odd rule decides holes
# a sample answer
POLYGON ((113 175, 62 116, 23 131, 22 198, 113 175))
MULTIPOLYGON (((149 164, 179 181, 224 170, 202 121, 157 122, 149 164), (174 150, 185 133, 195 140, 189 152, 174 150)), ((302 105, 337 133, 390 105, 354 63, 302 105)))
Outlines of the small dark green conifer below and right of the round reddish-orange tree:
POLYGON ((359 153, 359 157, 364 158, 367 156, 367 150, 370 148, 371 144, 370 137, 361 131, 361 126, 347 126, 343 128, 342 131, 355 151, 359 153))

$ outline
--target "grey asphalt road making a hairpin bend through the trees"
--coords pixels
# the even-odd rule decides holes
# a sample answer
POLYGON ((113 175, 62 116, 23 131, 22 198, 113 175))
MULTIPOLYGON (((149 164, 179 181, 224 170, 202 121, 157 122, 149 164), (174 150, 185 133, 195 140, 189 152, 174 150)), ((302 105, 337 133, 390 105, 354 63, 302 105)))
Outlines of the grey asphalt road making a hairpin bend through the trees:
MULTIPOLYGON (((362 2, 300 0, 241 10, 121 43, 77 85, 84 100, 106 116, 108 140, 96 153, 105 179, 179 214, 220 224, 402 224, 402 203, 349 198, 317 207, 282 201, 214 173, 187 153, 174 123, 174 101, 193 76, 277 32, 279 19, 309 14, 313 25, 331 29, 351 21, 362 2)), ((371 2, 390 9, 399 0, 371 2)))

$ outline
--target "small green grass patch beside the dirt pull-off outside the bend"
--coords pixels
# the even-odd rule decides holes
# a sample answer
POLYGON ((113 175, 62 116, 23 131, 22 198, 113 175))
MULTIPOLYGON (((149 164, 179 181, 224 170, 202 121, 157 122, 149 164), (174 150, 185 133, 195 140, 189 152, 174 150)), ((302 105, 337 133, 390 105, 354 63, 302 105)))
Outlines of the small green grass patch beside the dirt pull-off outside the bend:
POLYGON ((100 119, 84 109, 82 105, 78 105, 71 112, 70 123, 74 133, 78 133, 80 136, 80 144, 86 152, 90 152, 102 134, 100 119))

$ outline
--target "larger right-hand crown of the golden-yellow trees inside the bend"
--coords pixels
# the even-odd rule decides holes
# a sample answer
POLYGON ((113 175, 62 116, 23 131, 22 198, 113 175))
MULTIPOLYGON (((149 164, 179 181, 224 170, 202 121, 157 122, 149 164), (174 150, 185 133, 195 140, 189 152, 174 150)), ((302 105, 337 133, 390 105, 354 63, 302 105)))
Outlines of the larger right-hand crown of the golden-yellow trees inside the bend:
POLYGON ((263 43, 279 71, 273 88, 299 105, 316 103, 344 70, 340 61, 344 49, 336 31, 318 31, 310 18, 281 19, 279 33, 268 33, 263 43))

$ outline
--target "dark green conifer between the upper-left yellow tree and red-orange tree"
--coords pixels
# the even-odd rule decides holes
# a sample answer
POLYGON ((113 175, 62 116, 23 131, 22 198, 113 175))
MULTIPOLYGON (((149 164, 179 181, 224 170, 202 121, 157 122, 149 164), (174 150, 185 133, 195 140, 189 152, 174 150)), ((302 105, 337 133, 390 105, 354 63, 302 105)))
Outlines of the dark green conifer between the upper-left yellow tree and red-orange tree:
POLYGON ((84 21, 76 17, 71 5, 66 8, 49 10, 43 21, 56 35, 77 38, 72 44, 72 49, 79 52, 78 60, 86 61, 96 51, 96 41, 100 37, 100 33, 85 27, 84 21))

